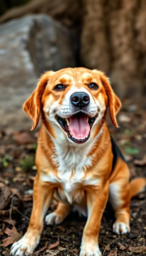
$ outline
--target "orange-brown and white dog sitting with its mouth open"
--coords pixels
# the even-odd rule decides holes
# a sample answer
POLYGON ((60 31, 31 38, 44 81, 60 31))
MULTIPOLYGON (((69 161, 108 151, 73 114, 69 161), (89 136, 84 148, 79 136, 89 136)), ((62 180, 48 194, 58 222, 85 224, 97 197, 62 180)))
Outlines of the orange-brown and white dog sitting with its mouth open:
POLYGON ((113 232, 130 232, 130 199, 143 190, 146 179, 129 183, 128 166, 110 137, 107 109, 113 125, 118 127, 116 114, 120 107, 108 77, 101 71, 64 68, 41 76, 24 103, 24 111, 33 122, 32 130, 40 115, 42 120, 33 208, 28 230, 12 245, 12 255, 33 253, 44 218, 48 225, 60 224, 75 209, 88 217, 80 256, 100 256, 98 236, 107 200, 115 212, 113 232), (58 207, 46 215, 53 197, 58 207))

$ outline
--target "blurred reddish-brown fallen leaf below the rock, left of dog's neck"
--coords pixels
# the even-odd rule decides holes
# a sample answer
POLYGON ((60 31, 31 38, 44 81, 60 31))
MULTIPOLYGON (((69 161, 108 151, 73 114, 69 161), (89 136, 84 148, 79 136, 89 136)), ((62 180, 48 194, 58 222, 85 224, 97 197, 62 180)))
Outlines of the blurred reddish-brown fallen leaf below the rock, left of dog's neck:
POLYGON ((14 134, 15 141, 18 145, 27 145, 35 143, 36 140, 28 132, 15 132, 14 134))

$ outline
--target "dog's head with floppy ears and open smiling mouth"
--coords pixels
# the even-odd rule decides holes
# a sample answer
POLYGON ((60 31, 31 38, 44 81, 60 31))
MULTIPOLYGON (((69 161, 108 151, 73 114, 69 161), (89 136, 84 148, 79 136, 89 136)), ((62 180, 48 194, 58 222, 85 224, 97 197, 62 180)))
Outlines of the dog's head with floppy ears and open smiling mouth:
POLYGON ((33 121, 32 130, 42 113, 55 135, 61 132, 61 136, 75 144, 93 137, 93 127, 101 122, 107 107, 111 121, 118 127, 120 100, 103 72, 87 68, 46 72, 24 103, 24 110, 33 121))

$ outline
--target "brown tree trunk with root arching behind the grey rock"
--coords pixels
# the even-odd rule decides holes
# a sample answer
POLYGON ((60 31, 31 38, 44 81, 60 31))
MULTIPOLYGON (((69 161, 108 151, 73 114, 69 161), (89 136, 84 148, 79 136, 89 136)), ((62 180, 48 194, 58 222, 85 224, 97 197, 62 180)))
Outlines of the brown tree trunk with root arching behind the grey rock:
POLYGON ((104 71, 121 99, 146 94, 146 0, 31 0, 0 22, 40 12, 74 33, 77 66, 104 71))

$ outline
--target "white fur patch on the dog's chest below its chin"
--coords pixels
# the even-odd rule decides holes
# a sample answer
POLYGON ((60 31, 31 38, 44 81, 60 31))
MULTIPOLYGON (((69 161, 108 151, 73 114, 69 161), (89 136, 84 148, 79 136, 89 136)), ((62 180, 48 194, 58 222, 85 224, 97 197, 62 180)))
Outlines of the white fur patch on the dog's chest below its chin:
POLYGON ((60 183, 64 190, 60 198, 67 200, 69 203, 73 201, 79 203, 81 197, 84 196, 80 184, 82 186, 98 185, 100 181, 99 179, 93 179, 92 176, 85 175, 86 168, 92 165, 92 157, 88 156, 92 145, 76 147, 67 144, 58 144, 54 141, 56 154, 53 160, 58 166, 58 176, 54 175, 54 172, 49 172, 42 174, 41 179, 46 182, 60 183))

